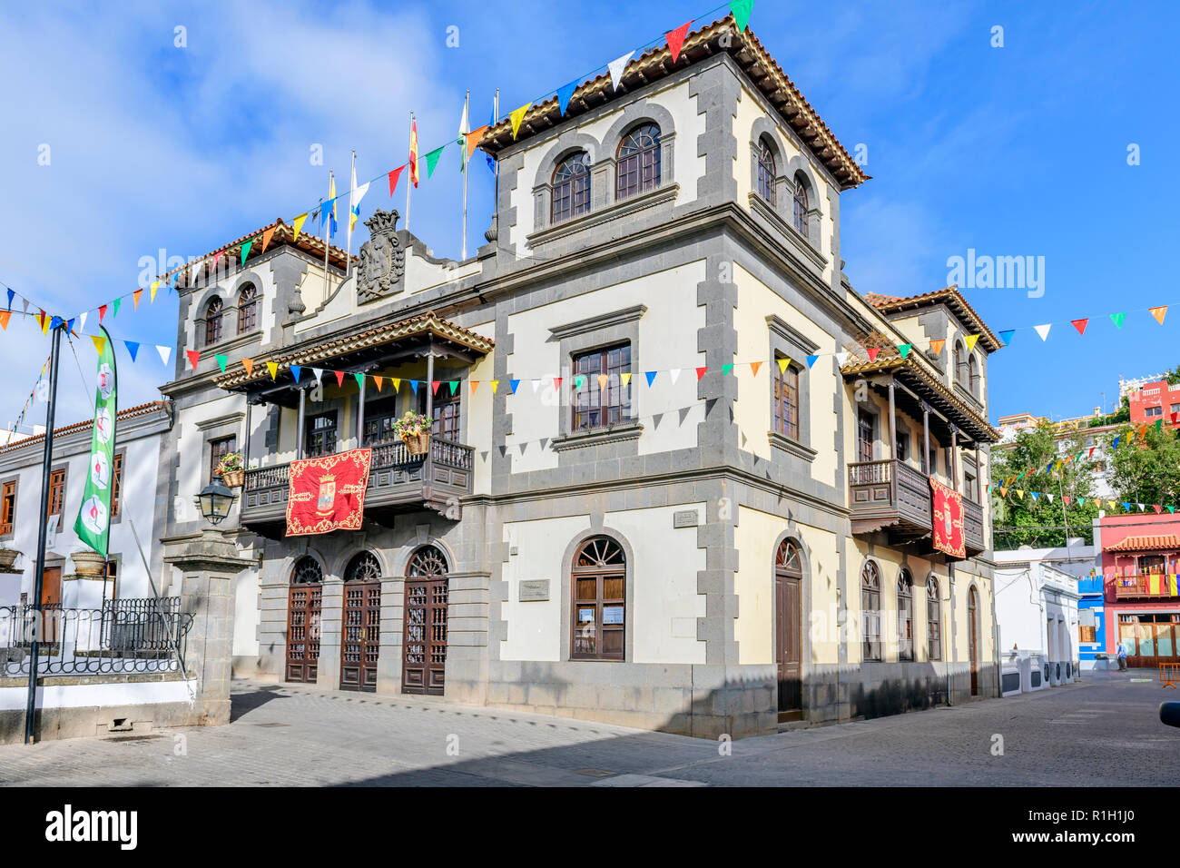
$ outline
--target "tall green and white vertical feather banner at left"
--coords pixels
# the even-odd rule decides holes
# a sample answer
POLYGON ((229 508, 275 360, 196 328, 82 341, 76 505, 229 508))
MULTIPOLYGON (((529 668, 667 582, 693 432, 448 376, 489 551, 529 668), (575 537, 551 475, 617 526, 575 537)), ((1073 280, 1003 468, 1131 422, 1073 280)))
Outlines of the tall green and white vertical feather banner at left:
MULTIPOLYGON (((101 328, 101 326, 100 326, 101 328)), ((106 557, 111 533, 111 491, 114 488, 116 396, 114 341, 106 340, 98 355, 94 374, 94 430, 90 437, 90 470, 83 489, 81 507, 74 521, 78 539, 106 557)))

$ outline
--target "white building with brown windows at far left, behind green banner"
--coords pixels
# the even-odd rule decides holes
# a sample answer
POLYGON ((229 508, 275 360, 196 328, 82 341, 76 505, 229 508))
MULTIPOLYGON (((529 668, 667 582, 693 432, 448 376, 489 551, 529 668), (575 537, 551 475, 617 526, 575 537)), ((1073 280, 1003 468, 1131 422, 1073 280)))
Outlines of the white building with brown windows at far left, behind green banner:
MULTIPOLYGON (((53 432, 50 513, 59 517, 50 528, 41 599, 67 608, 96 608, 101 600, 152 595, 132 523, 145 556, 155 561, 153 575, 159 575, 162 567, 159 547, 155 544, 160 535, 155 518, 156 498, 163 496, 158 481, 160 435, 172 426, 172 412, 166 402, 151 402, 118 415, 107 579, 101 588, 83 588, 80 582, 72 581, 70 555, 85 548, 73 531, 73 523, 86 481, 92 424, 87 419, 53 432)), ((0 573, 0 606, 33 601, 44 450, 44 433, 0 448, 0 548, 19 553, 14 572, 0 573)), ((165 592, 157 589, 160 594, 165 592)))

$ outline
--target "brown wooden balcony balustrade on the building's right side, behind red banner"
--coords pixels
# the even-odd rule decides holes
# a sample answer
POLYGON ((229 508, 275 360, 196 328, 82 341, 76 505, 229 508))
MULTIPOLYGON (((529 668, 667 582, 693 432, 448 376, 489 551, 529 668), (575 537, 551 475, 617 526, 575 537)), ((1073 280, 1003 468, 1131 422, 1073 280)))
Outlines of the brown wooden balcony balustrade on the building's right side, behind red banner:
MULTIPOLYGON (((933 496, 925 474, 894 459, 848 465, 848 505, 852 533, 885 530, 890 542, 913 544, 922 553, 931 547, 933 496)), ((963 536, 968 557, 986 548, 983 508, 963 498, 963 536)))

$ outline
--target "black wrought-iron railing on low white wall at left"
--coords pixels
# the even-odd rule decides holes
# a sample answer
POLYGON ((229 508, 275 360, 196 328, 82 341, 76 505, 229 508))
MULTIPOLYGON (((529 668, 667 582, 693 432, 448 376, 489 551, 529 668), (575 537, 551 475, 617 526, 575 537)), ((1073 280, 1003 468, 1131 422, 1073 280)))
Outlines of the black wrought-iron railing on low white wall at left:
POLYGON ((0 676, 27 677, 39 641, 39 676, 179 671, 192 615, 178 596, 109 600, 101 609, 0 607, 0 676))

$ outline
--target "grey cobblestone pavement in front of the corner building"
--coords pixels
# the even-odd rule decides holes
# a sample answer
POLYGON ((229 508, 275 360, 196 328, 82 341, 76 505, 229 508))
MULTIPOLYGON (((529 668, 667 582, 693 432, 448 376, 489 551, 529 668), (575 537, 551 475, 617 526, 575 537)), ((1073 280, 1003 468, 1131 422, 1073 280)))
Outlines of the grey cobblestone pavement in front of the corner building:
POLYGON ((4 785, 1173 785, 1146 671, 733 743, 445 700, 235 681, 227 726, 0 748, 4 785), (994 756, 994 736, 1003 755, 994 756), (181 750, 183 748, 183 750, 181 750))

